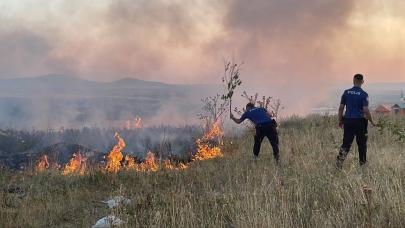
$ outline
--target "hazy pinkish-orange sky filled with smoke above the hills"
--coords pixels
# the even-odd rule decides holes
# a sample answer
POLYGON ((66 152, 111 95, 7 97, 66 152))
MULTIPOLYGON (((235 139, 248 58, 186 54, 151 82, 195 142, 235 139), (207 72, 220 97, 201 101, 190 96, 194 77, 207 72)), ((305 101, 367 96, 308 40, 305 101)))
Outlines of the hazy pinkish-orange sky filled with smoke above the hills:
POLYGON ((216 83, 293 101, 362 72, 405 81, 400 0, 0 0, 0 77, 216 83))

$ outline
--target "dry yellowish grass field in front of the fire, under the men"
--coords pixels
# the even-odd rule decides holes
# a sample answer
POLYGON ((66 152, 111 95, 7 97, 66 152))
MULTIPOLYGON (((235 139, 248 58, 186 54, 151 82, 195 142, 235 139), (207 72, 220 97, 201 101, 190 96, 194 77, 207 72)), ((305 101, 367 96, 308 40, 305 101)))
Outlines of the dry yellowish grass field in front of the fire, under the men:
POLYGON ((405 227, 405 144, 370 127, 367 166, 359 167, 353 147, 340 171, 336 125, 334 117, 282 122, 282 168, 267 141, 252 160, 247 132, 225 139, 223 157, 186 170, 1 170, 0 227, 91 227, 106 215, 122 227, 405 227), (118 195, 131 203, 99 202, 118 195))

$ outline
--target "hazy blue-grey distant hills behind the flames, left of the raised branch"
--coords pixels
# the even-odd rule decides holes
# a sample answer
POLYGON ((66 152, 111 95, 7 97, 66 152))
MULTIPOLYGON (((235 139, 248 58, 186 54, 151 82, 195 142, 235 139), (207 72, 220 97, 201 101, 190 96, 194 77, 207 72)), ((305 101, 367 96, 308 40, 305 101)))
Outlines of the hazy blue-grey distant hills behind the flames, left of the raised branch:
POLYGON ((96 82, 67 75, 0 79, 0 127, 119 127, 136 116, 149 124, 189 123, 200 99, 216 88, 135 78, 96 82))

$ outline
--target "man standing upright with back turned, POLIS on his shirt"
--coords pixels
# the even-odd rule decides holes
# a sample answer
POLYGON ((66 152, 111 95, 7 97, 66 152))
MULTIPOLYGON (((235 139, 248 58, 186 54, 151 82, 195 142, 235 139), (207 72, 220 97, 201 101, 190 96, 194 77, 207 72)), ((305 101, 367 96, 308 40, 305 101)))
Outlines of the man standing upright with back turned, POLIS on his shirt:
POLYGON ((356 142, 359 149, 360 165, 367 162, 367 125, 368 121, 374 126, 375 123, 368 108, 368 94, 361 89, 364 83, 363 75, 356 74, 353 78, 354 87, 342 95, 339 107, 339 126, 343 127, 343 144, 337 156, 336 165, 342 168, 343 161, 350 151, 350 147, 356 136, 356 142), (343 116, 343 111, 346 112, 343 116))

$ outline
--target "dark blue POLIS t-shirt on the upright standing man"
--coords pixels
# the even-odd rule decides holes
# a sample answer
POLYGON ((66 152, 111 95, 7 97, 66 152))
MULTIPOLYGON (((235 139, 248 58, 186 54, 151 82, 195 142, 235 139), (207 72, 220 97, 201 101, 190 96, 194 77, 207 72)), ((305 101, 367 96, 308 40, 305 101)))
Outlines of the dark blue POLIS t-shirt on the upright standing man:
POLYGON ((347 119, 364 118, 363 107, 368 107, 368 94, 358 86, 345 90, 340 104, 346 106, 347 119))

